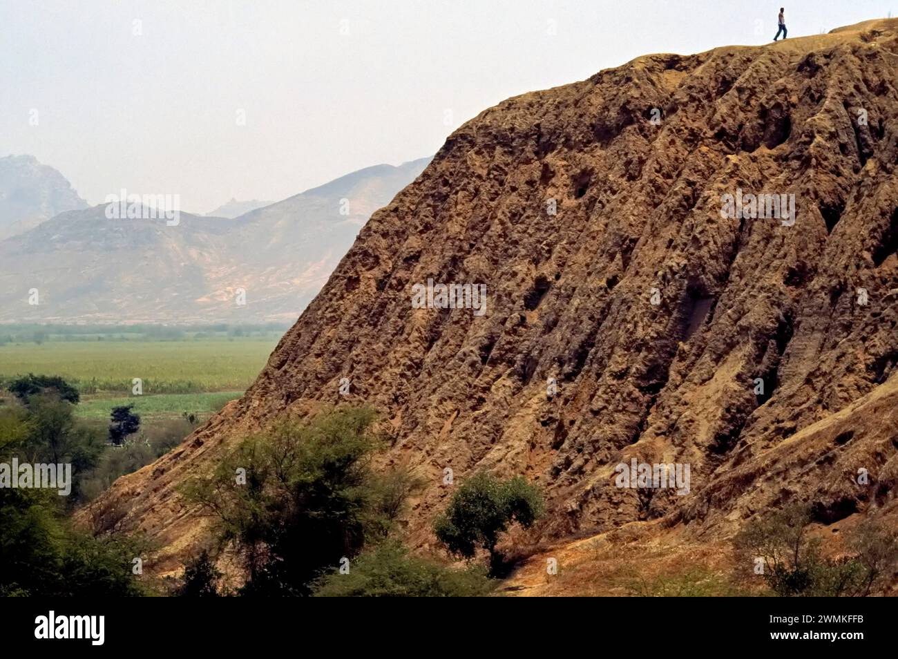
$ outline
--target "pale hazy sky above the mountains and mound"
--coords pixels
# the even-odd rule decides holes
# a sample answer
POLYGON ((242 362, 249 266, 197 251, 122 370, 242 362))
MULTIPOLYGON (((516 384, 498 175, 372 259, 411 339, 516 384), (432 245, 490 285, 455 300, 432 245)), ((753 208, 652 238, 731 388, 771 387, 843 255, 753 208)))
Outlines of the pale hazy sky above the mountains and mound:
MULTIPOLYGON (((122 187, 196 212, 286 198, 433 154, 518 93, 645 53, 765 43, 780 4, 0 0, 0 156, 37 156, 91 204, 122 187)), ((789 37, 890 11, 786 3, 789 37)))

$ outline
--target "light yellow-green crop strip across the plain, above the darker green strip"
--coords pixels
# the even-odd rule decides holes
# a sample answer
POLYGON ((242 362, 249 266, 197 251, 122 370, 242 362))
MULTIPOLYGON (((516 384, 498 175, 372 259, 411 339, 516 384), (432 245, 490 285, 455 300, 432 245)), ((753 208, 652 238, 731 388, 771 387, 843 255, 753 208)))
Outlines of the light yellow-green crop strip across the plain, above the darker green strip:
POLYGON ((48 341, 0 346, 0 378, 26 373, 61 375, 85 397, 243 391, 277 345, 273 338, 181 341, 48 341))

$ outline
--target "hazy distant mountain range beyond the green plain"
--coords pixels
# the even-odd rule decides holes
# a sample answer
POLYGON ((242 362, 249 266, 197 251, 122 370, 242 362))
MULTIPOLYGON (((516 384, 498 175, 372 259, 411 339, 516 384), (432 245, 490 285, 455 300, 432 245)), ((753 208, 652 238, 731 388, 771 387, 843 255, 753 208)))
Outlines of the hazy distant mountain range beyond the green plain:
MULTIPOLYGON (((36 180, 20 173, 19 189, 71 197, 18 198, 72 209, 0 241, 0 322, 295 321, 368 217, 430 162, 368 167, 234 218, 182 212, 169 226, 108 219, 105 205, 84 207, 59 172, 30 160, 36 180)), ((13 221, 0 214, 0 226, 13 221)))

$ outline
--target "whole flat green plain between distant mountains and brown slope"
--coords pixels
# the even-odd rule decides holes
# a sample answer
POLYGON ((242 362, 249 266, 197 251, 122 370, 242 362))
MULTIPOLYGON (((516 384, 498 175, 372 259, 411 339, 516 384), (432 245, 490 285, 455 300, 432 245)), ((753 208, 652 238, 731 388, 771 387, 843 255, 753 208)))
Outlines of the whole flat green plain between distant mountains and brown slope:
MULTIPOLYGON (((64 438, 61 444, 82 443, 83 454, 95 459, 78 476, 78 496, 90 501, 115 479, 171 451, 228 401, 240 398, 282 334, 283 329, 269 326, 224 324, 0 325, 0 422, 42 415, 35 416, 40 422, 28 432, 38 436, 43 428, 53 428, 64 438), (11 381, 29 373, 63 378, 78 390, 78 404, 40 399, 35 405, 33 394, 43 384, 17 400, 11 381), (141 394, 132 391, 134 378, 142 380, 141 394), (130 406, 139 422, 113 446, 110 416, 123 406, 130 406), (105 446, 98 454, 101 443, 105 446)), ((65 400, 70 391, 62 387, 59 393, 65 400)))

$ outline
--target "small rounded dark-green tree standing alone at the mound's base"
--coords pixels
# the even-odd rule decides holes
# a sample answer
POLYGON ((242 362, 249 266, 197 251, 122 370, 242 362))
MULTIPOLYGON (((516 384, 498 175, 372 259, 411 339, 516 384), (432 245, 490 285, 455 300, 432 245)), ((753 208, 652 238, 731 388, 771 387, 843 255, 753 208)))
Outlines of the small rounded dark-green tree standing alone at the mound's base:
POLYGON ((502 566, 496 545, 511 523, 530 528, 543 512, 540 488, 523 477, 500 480, 479 472, 462 483, 434 523, 437 540, 456 556, 472 558, 478 547, 489 551, 489 569, 502 566))

